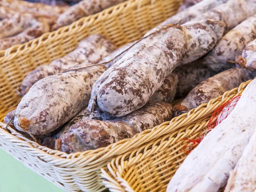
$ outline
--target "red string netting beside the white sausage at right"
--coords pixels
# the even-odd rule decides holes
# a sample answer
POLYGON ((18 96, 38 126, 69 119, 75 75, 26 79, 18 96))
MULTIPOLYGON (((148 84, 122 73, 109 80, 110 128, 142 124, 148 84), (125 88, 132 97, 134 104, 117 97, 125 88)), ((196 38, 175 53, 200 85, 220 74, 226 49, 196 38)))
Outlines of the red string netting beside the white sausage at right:
MULTIPOLYGON (((225 102, 224 104, 222 104, 220 107, 218 107, 213 113, 211 118, 209 119, 208 122, 208 131, 207 133, 209 133, 210 129, 215 128, 216 125, 220 124, 224 119, 227 118, 227 116, 231 113, 231 111, 233 111, 233 109, 235 108, 237 102, 240 99, 240 95, 234 97, 233 99, 230 99, 228 102, 225 102)), ((182 140, 187 140, 189 141, 189 143, 183 148, 184 150, 186 150, 185 152, 187 154, 189 154, 203 139, 204 139, 204 135, 201 135, 200 137, 198 137, 195 140, 189 140, 189 139, 182 139, 182 140), (192 145, 188 147, 188 145, 192 143, 192 145)))

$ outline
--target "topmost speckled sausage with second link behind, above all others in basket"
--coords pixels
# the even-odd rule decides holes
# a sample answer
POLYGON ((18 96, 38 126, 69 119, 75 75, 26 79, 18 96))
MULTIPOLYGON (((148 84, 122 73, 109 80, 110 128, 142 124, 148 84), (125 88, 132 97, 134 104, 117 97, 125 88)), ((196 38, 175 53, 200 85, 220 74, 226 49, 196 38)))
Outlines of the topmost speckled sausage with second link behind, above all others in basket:
POLYGON ((95 82, 89 111, 97 104, 117 117, 141 108, 177 67, 185 51, 183 63, 200 58, 214 47, 224 32, 220 29, 224 23, 216 20, 152 29, 95 82))

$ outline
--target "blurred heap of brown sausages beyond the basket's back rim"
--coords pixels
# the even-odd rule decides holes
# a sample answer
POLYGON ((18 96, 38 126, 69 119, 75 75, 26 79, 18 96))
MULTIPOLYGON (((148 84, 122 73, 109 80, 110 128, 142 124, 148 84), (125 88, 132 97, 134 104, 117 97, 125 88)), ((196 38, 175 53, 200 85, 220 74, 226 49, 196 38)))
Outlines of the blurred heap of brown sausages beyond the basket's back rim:
POLYGON ((0 50, 26 43, 125 0, 30 1, 33 3, 24 0, 0 1, 0 50), (70 6, 70 3, 75 4, 70 6))

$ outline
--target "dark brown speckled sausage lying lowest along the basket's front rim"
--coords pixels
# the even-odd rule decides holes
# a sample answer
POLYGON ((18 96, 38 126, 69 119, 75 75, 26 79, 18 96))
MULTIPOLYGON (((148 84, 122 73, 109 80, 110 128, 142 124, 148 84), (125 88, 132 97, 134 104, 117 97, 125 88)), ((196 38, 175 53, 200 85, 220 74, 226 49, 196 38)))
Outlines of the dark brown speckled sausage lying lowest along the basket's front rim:
POLYGON ((106 147, 119 140, 133 137, 172 117, 172 105, 159 103, 114 120, 89 120, 73 125, 69 133, 56 140, 55 149, 66 153, 106 147))

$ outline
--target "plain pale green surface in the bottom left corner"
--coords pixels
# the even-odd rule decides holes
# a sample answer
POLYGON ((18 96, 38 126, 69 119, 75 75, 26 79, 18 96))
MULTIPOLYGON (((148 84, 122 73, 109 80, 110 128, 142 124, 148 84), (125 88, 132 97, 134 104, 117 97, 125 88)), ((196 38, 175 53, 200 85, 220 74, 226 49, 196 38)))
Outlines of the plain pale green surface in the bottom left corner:
POLYGON ((0 192, 64 192, 0 149, 0 192))

